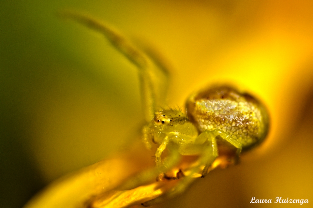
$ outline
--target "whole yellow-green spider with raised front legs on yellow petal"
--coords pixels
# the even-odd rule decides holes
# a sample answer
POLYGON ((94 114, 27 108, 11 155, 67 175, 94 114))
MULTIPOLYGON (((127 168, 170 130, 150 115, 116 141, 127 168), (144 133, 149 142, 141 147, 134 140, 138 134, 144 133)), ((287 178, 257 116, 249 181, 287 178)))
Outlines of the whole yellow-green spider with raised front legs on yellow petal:
POLYGON ((186 113, 180 109, 159 108, 157 105, 162 103, 164 96, 157 94, 160 92, 152 79, 157 76, 151 66, 154 63, 165 75, 168 72, 155 54, 137 49, 114 29, 87 15, 61 14, 102 33, 138 69, 146 121, 142 140, 148 149, 156 144, 156 167, 131 178, 120 188, 132 189, 156 176, 157 180, 181 178, 167 193, 143 205, 152 205, 182 193, 197 177, 195 175, 204 177, 208 173, 218 156, 226 155, 228 160, 233 160, 232 163, 238 163, 242 151, 258 145, 266 137, 269 122, 264 105, 250 94, 228 85, 215 85, 192 94, 186 102, 186 113), (166 172, 185 155, 196 155, 197 159, 187 168, 168 176, 166 172))

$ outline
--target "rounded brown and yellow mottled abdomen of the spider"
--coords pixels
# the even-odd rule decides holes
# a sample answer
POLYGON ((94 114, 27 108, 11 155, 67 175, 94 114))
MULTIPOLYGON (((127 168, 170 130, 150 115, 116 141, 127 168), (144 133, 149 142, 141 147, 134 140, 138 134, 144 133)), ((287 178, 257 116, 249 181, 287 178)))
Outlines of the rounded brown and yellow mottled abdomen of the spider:
POLYGON ((268 131, 263 105, 247 93, 228 86, 209 88, 187 101, 187 115, 199 133, 221 129, 247 149, 261 142, 268 131))

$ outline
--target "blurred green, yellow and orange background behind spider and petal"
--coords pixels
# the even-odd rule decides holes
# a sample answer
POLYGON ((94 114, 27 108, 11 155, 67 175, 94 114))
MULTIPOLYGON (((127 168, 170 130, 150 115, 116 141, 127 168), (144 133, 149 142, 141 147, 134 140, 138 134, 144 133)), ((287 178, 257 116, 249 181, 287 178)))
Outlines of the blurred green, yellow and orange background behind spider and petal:
POLYGON ((277 196, 313 207, 310 0, 2 0, 0 207, 21 207, 56 178, 138 139, 136 68, 100 34, 59 19, 64 8, 105 20, 166 57, 169 105, 183 108, 190 93, 219 82, 269 109, 264 144, 158 207, 265 207, 249 202, 277 196))

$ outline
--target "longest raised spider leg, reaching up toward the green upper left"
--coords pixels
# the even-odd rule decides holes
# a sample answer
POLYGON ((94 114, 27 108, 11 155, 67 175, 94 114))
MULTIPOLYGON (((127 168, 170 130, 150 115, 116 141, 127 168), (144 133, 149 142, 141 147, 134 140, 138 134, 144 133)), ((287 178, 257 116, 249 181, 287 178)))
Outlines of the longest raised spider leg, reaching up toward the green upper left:
POLYGON ((137 66, 139 69, 141 99, 145 120, 146 122, 150 122, 153 119, 155 112, 155 92, 153 90, 153 83, 151 82, 151 60, 145 55, 145 53, 141 52, 124 38, 123 35, 95 18, 72 11, 63 11, 60 12, 59 15, 63 18, 73 19, 78 23, 102 33, 118 51, 124 54, 126 58, 137 66))

